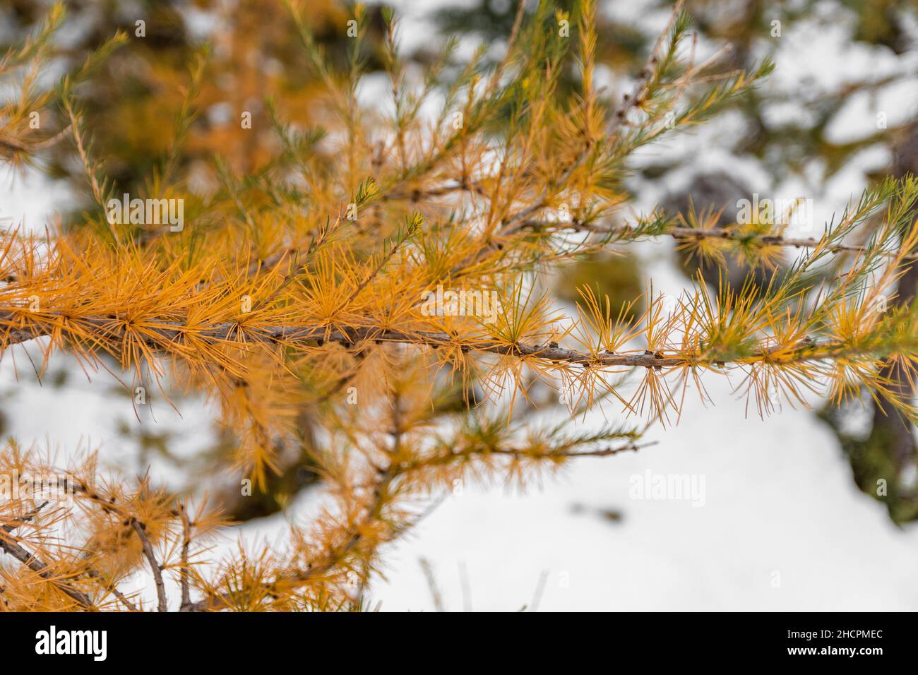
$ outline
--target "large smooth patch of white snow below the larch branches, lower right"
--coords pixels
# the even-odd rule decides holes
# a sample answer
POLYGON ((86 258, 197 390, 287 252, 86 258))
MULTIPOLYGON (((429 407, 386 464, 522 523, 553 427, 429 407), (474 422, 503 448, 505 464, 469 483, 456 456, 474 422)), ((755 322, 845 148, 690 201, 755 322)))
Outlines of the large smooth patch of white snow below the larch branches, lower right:
POLYGON ((831 433, 807 411, 746 420, 719 389, 716 410, 689 404, 654 447, 578 462, 526 496, 451 497, 390 557, 383 606, 431 607, 427 557, 453 610, 461 565, 477 610, 532 602, 543 573, 543 610, 918 609, 918 532, 857 492, 831 433), (703 477, 703 505, 632 499, 647 471, 703 477))

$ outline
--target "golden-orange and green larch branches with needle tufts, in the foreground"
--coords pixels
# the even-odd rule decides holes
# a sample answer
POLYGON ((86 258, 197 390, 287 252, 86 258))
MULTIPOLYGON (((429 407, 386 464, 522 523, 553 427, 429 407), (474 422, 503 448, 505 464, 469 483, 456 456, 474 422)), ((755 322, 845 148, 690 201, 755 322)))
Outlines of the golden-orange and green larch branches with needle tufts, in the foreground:
POLYGON ((176 171, 198 111, 203 65, 193 64, 174 140, 147 192, 131 195, 182 200, 179 231, 111 221, 121 190, 83 123, 81 82, 133 38, 116 36, 41 89, 35 74, 65 20, 56 7, 0 62, 20 93, 0 114, 4 161, 70 142, 93 199, 77 223, 2 234, 0 350, 17 358, 17 345, 34 345, 39 374, 52 354, 71 354, 94 381, 118 377, 131 395, 176 407, 202 394, 235 439, 215 470, 267 489, 296 447, 324 506, 291 525, 280 550, 241 543, 215 557, 231 525, 202 494, 106 475, 91 452, 56 465, 31 439, 11 440, 3 473, 66 474, 72 499, 0 501, 0 547, 16 559, 0 568, 6 609, 365 609, 386 544, 431 497, 456 481, 526 485, 577 456, 636 450, 648 425, 677 423, 689 384, 704 396, 711 378, 730 377, 761 415, 805 405, 810 391, 836 402, 867 391, 914 419, 887 366, 915 376, 916 309, 878 310, 918 243, 911 177, 869 189, 803 241, 775 219, 715 229, 710 211, 628 208, 634 153, 703 123, 769 63, 747 73, 715 68, 723 54, 697 61, 677 7, 633 89, 612 98, 595 85, 595 2, 584 0, 573 15, 550 3, 521 11, 496 66, 484 51, 458 60, 451 41, 419 74, 386 15, 390 100, 368 106, 361 8, 348 17, 357 29, 343 67, 288 9, 319 83, 309 123, 291 124, 264 92, 270 157, 240 174, 216 156, 212 182, 194 184, 176 171), (565 73, 576 74, 575 96, 556 91, 565 73), (45 108, 60 129, 29 127, 45 108), (663 237, 715 265, 741 256, 770 282, 699 279, 673 299, 648 285, 636 321, 589 286, 568 316, 547 289, 569 261, 663 237), (498 302, 431 311, 424 298, 438 287, 498 302), (535 380, 563 392, 565 422, 533 410, 535 380), (578 421, 596 407, 633 424, 587 431, 578 421), (304 416, 319 440, 302 437, 304 416), (155 602, 121 591, 139 570, 155 602))

